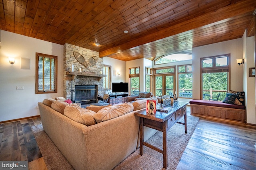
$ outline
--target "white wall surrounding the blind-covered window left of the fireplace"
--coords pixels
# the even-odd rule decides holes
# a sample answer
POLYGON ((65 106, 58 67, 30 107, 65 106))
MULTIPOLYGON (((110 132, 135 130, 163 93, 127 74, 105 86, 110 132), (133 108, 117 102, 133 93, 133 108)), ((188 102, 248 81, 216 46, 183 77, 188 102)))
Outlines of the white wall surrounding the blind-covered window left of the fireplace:
POLYGON ((0 122, 39 115, 38 102, 63 96, 63 46, 3 30, 0 36, 0 122), (58 56, 58 93, 35 94, 36 53, 58 56), (20 69, 21 57, 30 59, 30 69, 20 69))

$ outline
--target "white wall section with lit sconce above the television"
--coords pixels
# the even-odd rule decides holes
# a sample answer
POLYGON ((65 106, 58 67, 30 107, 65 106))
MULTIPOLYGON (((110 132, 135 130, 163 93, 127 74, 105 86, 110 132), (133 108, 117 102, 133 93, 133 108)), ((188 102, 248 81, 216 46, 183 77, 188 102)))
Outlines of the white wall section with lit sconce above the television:
MULTIPOLYGON (((111 66, 112 82, 128 82, 126 81, 126 62, 125 61, 112 59, 110 57, 103 57, 103 64, 111 66), (120 72, 120 75, 117 75, 118 71, 120 72)), ((105 93, 106 92, 104 92, 104 94, 105 93)))

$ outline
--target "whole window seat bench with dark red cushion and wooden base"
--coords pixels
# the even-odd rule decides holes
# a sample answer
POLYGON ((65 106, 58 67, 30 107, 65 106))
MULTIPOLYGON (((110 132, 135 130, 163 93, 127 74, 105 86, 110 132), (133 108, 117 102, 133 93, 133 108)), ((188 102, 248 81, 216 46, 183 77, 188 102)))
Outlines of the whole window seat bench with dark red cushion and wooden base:
POLYGON ((189 103, 191 115, 224 123, 245 125, 246 108, 244 105, 209 100, 191 100, 189 103))

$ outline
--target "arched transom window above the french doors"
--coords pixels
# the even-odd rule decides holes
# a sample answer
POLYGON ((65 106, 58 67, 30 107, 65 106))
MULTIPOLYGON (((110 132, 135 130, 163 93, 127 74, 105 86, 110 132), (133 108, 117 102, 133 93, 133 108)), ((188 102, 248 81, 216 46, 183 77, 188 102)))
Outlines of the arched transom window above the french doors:
POLYGON ((192 55, 187 53, 176 53, 163 56, 159 59, 156 59, 155 64, 165 64, 165 63, 172 63, 178 61, 185 61, 185 60, 192 60, 192 55))

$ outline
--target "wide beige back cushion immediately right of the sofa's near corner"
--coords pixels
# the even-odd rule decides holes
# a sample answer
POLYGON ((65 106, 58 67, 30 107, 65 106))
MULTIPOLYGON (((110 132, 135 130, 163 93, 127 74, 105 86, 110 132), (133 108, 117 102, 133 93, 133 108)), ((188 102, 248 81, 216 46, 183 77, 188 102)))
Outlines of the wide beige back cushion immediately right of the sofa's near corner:
POLYGON ((107 121, 115 117, 130 113, 133 111, 133 105, 131 103, 123 103, 117 106, 109 106, 100 109, 94 114, 94 119, 97 123, 107 121))

